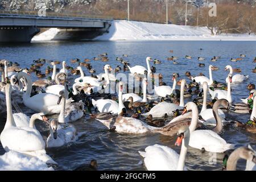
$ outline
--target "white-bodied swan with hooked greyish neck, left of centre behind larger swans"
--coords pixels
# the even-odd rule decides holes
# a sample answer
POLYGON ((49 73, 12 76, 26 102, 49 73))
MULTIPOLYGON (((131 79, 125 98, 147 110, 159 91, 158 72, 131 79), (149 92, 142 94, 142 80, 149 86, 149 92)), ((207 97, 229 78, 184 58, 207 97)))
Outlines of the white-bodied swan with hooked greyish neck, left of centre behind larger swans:
POLYGON ((65 73, 57 73, 57 75, 55 76, 56 85, 47 86, 46 93, 59 95, 60 91, 64 91, 65 98, 68 98, 68 90, 66 89, 65 85, 61 85, 60 78, 59 78, 60 76, 64 77, 64 84, 66 84, 67 75, 65 73))

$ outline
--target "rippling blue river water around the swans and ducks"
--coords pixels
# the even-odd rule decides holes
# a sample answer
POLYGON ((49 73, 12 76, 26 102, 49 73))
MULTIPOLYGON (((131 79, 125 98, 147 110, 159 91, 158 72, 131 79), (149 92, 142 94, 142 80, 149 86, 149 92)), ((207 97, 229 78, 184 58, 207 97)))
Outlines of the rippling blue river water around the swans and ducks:
MULTIPOLYGON (((189 71, 192 75, 198 75, 200 72, 208 76, 208 66, 210 64, 219 67, 218 71, 213 71, 213 80, 224 82, 228 72, 224 72, 225 65, 232 65, 233 68, 241 68, 242 74, 250 75, 249 80, 242 84, 232 85, 232 97, 234 102, 240 102, 240 98, 245 98, 249 94, 246 86, 249 83, 255 84, 255 73, 251 69, 255 67, 253 58, 256 56, 256 42, 185 42, 185 41, 145 41, 145 42, 46 42, 46 43, 31 43, 31 44, 0 44, 0 59, 7 59, 13 62, 18 62, 22 67, 30 67, 32 60, 38 58, 51 60, 68 60, 68 65, 76 67, 76 64, 71 64, 69 60, 80 58, 81 60, 108 52, 110 61, 107 62, 115 68, 121 65, 115 61, 115 57, 123 54, 129 55, 125 60, 131 65, 143 65, 146 67, 146 57, 151 56, 153 59, 159 59, 162 64, 154 65, 158 73, 163 73, 164 82, 172 85, 171 75, 179 73, 180 78, 186 78, 184 73, 189 71), (200 48, 203 48, 200 51, 200 48), (174 53, 170 53, 170 49, 174 53), (246 58, 242 61, 231 62, 230 58, 239 57, 240 54, 245 54, 246 58), (180 57, 177 62, 172 64, 172 61, 167 61, 169 56, 180 57), (186 60, 183 57, 191 55, 192 60, 186 60), (197 57, 203 56, 205 61, 198 61, 197 57), (213 56, 221 56, 222 59, 217 62, 209 61, 213 56), (205 63, 205 67, 198 67, 199 63, 205 63)), ((103 72, 103 67, 106 62, 90 61, 96 73, 103 72)), ((151 63, 152 64, 152 63, 151 63)), ((57 67, 61 67, 58 65, 57 67)), ((122 67, 122 65, 121 65, 122 67)), ((42 69, 44 72, 45 67, 42 69)), ((85 71, 86 69, 84 69, 85 71)), ((85 71, 88 74, 88 71, 85 71)), ((35 76, 33 76, 35 80, 35 76)), ((189 81, 187 79, 187 81, 189 81)), ((208 94, 209 96, 209 94, 208 94)), ((189 100, 185 100, 188 102, 189 100)), ((22 107, 23 112, 28 115, 32 114, 31 110, 22 107)), ((249 114, 228 114, 227 118, 236 118, 238 121, 246 122, 250 118, 249 114)), ((0 123, 2 130, 5 119, 0 123)), ((129 135, 110 133, 100 122, 93 119, 88 119, 88 115, 73 123, 78 131, 86 131, 76 143, 71 143, 68 146, 47 149, 49 155, 59 164, 55 169, 72 170, 80 166, 80 164, 88 164, 91 159, 97 159, 98 169, 100 170, 144 170, 142 158, 138 154, 139 150, 144 151, 149 145, 159 143, 179 152, 180 147, 175 147, 175 137, 167 137, 160 134, 142 134, 129 135)), ((49 131, 44 123, 36 123, 36 127, 46 139, 49 131)), ((251 144, 256 148, 255 134, 247 133, 243 130, 227 128, 224 129, 224 134, 221 135, 228 143, 237 144, 236 147, 251 144)), ((5 151, 0 148, 0 154, 5 151)), ((210 164, 210 156, 205 152, 189 148, 187 154, 186 165, 189 170, 220 170, 222 168, 222 158, 224 154, 217 154, 216 164, 210 164)), ((245 162, 238 163, 238 169, 243 169, 245 162)))

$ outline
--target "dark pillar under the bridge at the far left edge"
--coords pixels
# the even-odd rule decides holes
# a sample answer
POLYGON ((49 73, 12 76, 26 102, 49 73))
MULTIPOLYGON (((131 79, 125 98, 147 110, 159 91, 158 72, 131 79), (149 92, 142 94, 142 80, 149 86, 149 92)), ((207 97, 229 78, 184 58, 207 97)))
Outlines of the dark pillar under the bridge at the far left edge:
POLYGON ((30 42, 40 31, 36 27, 1 27, 0 42, 30 42))

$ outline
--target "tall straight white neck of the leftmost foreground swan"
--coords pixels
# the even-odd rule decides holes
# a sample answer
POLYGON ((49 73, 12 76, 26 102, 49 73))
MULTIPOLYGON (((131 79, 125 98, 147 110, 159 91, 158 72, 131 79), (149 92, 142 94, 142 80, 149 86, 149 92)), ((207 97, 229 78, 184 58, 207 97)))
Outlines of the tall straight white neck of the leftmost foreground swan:
POLYGON ((13 117, 13 110, 11 109, 11 86, 6 85, 6 90, 5 90, 5 95, 6 95, 6 112, 7 112, 7 117, 6 117, 6 123, 5 123, 5 129, 11 126, 16 126, 14 122, 14 117, 13 117))

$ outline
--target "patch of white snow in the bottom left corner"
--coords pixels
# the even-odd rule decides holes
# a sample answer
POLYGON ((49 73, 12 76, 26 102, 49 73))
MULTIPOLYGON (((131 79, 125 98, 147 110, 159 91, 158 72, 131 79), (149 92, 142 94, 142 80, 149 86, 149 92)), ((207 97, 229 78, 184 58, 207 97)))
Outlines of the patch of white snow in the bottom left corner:
POLYGON ((9 151, 0 156, 0 171, 53 171, 46 163, 38 158, 9 151))

